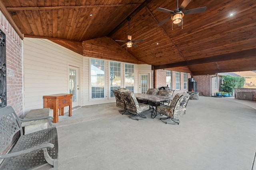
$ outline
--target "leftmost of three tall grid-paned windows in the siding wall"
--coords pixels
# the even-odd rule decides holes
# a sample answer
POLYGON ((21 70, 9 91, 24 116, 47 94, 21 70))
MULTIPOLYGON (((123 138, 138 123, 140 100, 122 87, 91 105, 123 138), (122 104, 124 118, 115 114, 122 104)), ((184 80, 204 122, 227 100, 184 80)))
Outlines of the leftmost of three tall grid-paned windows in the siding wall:
POLYGON ((91 98, 104 98, 105 63, 103 60, 91 59, 91 98))

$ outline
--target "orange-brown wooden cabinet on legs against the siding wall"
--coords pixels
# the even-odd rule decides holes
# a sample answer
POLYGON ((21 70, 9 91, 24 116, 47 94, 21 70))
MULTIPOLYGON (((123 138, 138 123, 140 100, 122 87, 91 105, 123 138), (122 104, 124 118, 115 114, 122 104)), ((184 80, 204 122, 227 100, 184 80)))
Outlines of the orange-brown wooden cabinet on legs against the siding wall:
POLYGON ((53 123, 57 123, 58 112, 64 115, 64 107, 69 106, 69 116, 72 116, 72 94, 52 94, 44 96, 44 108, 53 109, 53 123))

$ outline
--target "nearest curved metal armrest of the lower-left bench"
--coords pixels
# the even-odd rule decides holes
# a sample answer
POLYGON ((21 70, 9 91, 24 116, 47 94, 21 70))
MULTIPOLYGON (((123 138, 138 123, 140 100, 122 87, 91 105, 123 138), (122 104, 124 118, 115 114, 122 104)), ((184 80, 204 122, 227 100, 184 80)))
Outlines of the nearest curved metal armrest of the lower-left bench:
POLYGON ((41 145, 36 146, 36 147, 29 148, 29 149, 20 150, 18 152, 13 152, 13 153, 9 153, 9 154, 0 155, 0 159, 20 156, 22 154, 27 154, 29 152, 33 152, 34 150, 40 150, 40 149, 44 149, 44 148, 51 148, 52 149, 53 147, 54 147, 54 145, 52 143, 44 143, 44 144, 41 144, 41 145))

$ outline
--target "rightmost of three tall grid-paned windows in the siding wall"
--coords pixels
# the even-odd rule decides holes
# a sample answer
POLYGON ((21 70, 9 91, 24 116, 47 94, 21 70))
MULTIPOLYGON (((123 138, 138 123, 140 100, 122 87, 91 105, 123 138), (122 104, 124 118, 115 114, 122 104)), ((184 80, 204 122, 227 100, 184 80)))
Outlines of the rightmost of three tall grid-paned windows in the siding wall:
POLYGON ((128 88, 130 92, 134 92, 134 65, 125 64, 125 88, 128 88))

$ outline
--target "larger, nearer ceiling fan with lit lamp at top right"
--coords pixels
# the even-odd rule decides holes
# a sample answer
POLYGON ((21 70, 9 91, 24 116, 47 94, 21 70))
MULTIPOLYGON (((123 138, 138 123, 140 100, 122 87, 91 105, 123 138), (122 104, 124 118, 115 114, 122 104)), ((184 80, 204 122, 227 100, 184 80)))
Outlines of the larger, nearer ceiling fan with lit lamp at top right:
POLYGON ((174 10, 174 11, 167 10, 165 8, 157 8, 156 10, 158 10, 160 12, 165 12, 165 13, 168 13, 168 14, 172 14, 172 16, 170 18, 167 18, 167 19, 163 20, 162 22, 158 23, 157 25, 158 26, 162 25, 166 21, 172 19, 172 29, 173 29, 173 23, 178 24, 178 26, 182 25, 182 28, 183 28, 182 18, 184 17, 185 14, 197 14, 197 13, 204 12, 206 10, 206 6, 204 6, 204 7, 194 8, 194 9, 186 10, 186 11, 182 12, 182 10, 184 10, 184 8, 186 8, 186 6, 190 3, 190 1, 191 0, 184 0, 182 2, 182 4, 180 5, 180 8, 179 8, 178 7, 178 0, 177 0, 177 9, 174 10))

